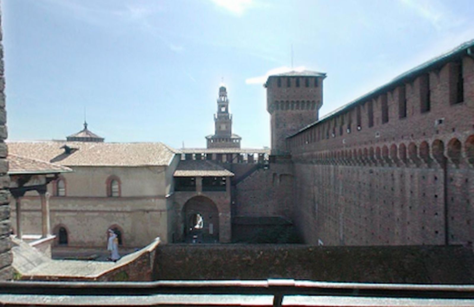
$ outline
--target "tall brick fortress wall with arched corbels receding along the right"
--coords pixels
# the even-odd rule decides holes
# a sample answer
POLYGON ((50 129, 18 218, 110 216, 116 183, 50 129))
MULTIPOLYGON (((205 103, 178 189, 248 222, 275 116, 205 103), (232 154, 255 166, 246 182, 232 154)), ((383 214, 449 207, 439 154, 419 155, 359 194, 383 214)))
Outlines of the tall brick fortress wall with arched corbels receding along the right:
POLYGON ((474 60, 463 56, 462 63, 461 103, 453 104, 453 61, 428 72, 427 112, 421 112, 424 74, 287 140, 295 164, 295 224, 307 242, 474 241, 474 60), (403 94, 406 117, 399 118, 403 94))

